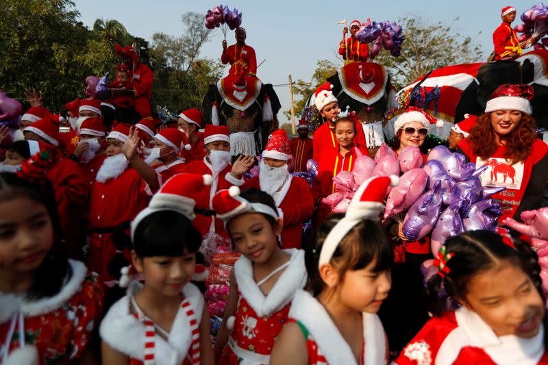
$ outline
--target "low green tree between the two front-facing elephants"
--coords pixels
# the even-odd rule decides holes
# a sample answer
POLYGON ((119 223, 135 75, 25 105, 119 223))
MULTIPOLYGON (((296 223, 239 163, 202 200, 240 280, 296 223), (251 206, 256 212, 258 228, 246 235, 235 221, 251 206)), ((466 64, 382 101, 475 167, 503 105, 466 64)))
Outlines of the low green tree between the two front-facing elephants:
MULTIPOLYGON (((297 81, 294 81, 293 109, 295 110, 295 117, 299 117, 306 105, 306 101, 308 101, 308 98, 312 95, 312 93, 314 93, 316 88, 321 84, 324 84, 327 77, 336 73, 340 66, 343 66, 342 61, 335 64, 329 60, 318 60, 310 82, 306 82, 303 79, 297 79, 297 81)), ((284 115, 288 119, 291 119, 291 110, 284 111, 284 115)))

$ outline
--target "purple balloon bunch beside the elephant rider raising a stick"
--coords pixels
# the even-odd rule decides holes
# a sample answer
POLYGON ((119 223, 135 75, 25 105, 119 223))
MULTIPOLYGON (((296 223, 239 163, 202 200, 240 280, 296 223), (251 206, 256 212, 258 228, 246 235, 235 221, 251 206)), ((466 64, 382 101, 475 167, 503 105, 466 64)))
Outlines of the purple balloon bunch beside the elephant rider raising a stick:
POLYGON ((373 43, 369 51, 371 59, 384 49, 390 51, 390 55, 399 57, 401 54, 401 44, 406 36, 401 34, 401 27, 393 21, 382 21, 373 23, 363 23, 358 32, 356 39, 361 43, 373 43))

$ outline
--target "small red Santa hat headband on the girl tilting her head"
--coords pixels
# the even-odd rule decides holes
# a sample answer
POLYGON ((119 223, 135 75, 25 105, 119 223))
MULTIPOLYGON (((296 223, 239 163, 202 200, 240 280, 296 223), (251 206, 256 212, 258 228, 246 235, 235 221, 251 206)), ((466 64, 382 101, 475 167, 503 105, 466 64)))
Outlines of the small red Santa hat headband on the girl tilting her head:
POLYGON ((212 199, 212 207, 217 214, 217 218, 225 221, 225 225, 235 216, 244 213, 262 213, 273 218, 279 217, 279 214, 269 205, 251 203, 240 197, 240 188, 238 186, 231 186, 229 189, 217 192, 212 199))

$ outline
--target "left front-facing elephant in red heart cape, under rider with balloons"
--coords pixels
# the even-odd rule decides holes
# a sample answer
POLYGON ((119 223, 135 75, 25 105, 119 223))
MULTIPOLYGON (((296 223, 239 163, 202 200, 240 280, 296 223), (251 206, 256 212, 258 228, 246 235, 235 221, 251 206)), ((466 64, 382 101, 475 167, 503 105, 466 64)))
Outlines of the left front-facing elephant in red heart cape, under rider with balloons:
POLYGON ((227 125, 232 155, 261 153, 277 129, 280 108, 272 84, 242 75, 228 75, 210 85, 201 103, 207 124, 227 125))

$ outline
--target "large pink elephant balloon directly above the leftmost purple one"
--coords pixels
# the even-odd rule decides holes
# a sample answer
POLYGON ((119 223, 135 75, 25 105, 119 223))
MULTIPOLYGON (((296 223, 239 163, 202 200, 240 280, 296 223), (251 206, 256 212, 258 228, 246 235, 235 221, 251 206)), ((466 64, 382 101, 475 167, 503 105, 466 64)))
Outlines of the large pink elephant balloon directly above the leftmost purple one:
POLYGON ((399 178, 399 184, 390 190, 386 199, 384 218, 394 216, 407 210, 412 203, 421 197, 428 175, 422 168, 412 168, 399 178))

